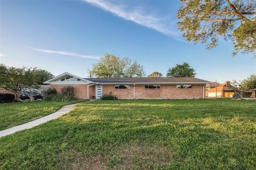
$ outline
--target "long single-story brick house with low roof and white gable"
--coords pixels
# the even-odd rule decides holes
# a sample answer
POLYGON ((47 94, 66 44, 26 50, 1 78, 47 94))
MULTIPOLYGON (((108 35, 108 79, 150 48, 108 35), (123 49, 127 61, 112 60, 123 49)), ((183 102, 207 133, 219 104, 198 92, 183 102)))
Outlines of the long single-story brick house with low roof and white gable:
POLYGON ((199 99, 211 82, 197 78, 80 78, 65 72, 44 83, 58 92, 73 86, 75 96, 82 99, 100 99, 110 92, 118 99, 199 99))

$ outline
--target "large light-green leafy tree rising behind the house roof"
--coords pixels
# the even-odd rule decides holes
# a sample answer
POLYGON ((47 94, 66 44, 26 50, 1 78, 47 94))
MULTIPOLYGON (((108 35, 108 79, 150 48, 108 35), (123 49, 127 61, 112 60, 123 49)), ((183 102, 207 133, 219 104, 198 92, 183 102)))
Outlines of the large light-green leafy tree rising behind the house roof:
POLYGON ((101 57, 99 62, 93 64, 89 71, 91 77, 97 78, 131 78, 144 77, 143 66, 137 61, 129 58, 120 58, 113 54, 106 54, 101 57))

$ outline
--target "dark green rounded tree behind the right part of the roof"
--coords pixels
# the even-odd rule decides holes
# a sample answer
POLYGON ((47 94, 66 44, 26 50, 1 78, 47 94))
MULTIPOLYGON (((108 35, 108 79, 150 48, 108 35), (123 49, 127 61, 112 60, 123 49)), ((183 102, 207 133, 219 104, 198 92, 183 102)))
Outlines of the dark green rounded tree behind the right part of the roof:
POLYGON ((183 64, 176 64, 175 67, 167 71, 166 77, 190 77, 194 78, 196 75, 195 70, 190 67, 186 62, 183 64))

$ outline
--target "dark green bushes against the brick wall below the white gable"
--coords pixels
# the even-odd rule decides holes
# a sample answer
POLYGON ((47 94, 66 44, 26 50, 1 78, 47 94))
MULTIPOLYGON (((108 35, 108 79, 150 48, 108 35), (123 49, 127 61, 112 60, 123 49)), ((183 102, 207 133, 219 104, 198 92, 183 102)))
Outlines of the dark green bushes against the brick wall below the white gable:
POLYGON ((44 96, 46 101, 70 101, 76 100, 74 94, 74 88, 72 86, 66 86, 61 89, 61 94, 57 93, 56 89, 48 89, 44 96))

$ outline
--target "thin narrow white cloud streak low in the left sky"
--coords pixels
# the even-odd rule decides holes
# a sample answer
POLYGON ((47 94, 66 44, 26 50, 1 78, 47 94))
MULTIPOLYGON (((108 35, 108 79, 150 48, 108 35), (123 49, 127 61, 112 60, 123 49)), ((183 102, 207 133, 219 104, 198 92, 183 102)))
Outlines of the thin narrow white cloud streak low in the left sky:
POLYGON ((54 50, 34 48, 34 47, 27 47, 27 48, 36 50, 38 52, 48 53, 48 54, 60 54, 60 55, 68 55, 68 56, 75 56, 75 57, 81 57, 81 58, 97 59, 97 60, 99 59, 99 57, 95 57, 91 55, 82 55, 74 52, 54 51, 54 50))

